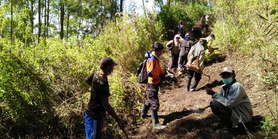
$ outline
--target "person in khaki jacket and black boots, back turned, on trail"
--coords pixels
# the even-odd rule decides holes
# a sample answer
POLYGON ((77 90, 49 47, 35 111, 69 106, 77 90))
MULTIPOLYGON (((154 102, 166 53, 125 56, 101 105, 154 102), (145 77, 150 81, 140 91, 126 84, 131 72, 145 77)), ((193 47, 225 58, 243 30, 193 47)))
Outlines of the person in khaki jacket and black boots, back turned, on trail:
MULTIPOLYGON (((205 45, 206 45, 205 38, 200 38, 199 42, 197 42, 194 46, 192 46, 188 53, 187 59, 192 59, 192 57, 194 56, 196 58, 195 61, 198 61, 197 62, 198 65, 194 69, 187 67, 187 79, 186 79, 185 91, 195 91, 199 81, 202 78, 202 73, 204 69, 204 59, 205 59, 205 51, 204 51, 205 45), (195 77, 195 79, 193 80, 192 86, 190 88, 191 80, 193 77, 195 77)), ((191 64, 190 62, 193 61, 188 60, 187 63, 191 64)))

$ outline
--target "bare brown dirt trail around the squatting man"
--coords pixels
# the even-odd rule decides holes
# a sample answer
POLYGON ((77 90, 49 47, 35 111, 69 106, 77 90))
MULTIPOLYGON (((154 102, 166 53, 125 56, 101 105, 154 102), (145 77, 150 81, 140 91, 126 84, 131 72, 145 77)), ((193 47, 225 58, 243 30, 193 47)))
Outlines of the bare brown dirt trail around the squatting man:
POLYGON ((244 63, 237 63, 235 56, 228 57, 223 62, 210 63, 204 68, 204 73, 211 76, 208 81, 206 76, 202 76, 197 86, 197 92, 185 91, 186 75, 178 77, 178 81, 170 88, 162 89, 159 92, 160 124, 167 125, 164 130, 153 130, 151 118, 144 119, 144 123, 134 131, 131 138, 262 138, 256 133, 256 127, 263 120, 266 113, 266 103, 263 93, 259 90, 260 82, 255 77, 256 63, 253 59, 246 57, 244 63), (210 95, 205 93, 202 86, 207 83, 214 84, 212 89, 216 92, 221 88, 221 77, 219 71, 224 66, 232 66, 236 73, 236 79, 244 86, 253 106, 253 120, 247 125, 249 134, 245 130, 234 133, 221 134, 216 129, 220 119, 208 108, 203 114, 192 113, 190 108, 199 109, 209 105, 212 100, 210 95))

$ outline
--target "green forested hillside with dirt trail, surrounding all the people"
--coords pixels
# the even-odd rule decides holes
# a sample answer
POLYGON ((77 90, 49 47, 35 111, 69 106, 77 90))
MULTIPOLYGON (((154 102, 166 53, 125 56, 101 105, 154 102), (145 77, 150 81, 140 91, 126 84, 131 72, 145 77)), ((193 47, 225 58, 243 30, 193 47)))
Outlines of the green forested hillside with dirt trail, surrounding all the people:
MULTIPOLYGON (((99 61, 119 63, 112 75, 109 102, 126 122, 131 138, 277 138, 278 3, 275 0, 151 0, 153 10, 138 13, 127 1, 0 1, 0 138, 85 138, 84 111, 90 100, 85 77, 99 71, 99 61), (154 42, 164 46, 183 21, 185 31, 210 15, 213 53, 205 51, 204 74, 197 92, 186 92, 186 73, 164 80, 159 92, 160 124, 141 119, 147 99, 137 67, 154 42), (242 132, 219 134, 220 120, 208 108, 203 86, 219 92, 224 66, 232 66, 254 111, 242 132)), ((142 1, 148 5, 149 1, 142 1)), ((195 37, 192 36, 193 41, 195 37)), ((169 51, 160 56, 166 70, 169 51)), ((102 138, 125 138, 107 115, 102 138)))

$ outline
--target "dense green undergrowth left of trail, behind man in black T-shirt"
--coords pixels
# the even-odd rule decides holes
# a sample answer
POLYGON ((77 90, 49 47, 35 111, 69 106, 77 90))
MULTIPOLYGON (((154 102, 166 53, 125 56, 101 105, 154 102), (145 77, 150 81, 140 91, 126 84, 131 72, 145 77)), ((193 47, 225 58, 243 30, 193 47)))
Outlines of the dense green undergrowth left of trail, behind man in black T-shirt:
MULTIPOLYGON (((119 63, 110 81, 110 102, 119 115, 136 127, 145 97, 137 83, 137 65, 146 50, 163 36, 161 23, 125 15, 103 29, 97 38, 85 36, 41 39, 25 45, 0 39, 1 136, 22 138, 84 135, 83 112, 90 99, 84 78, 99 70, 99 60, 110 56, 119 63), (135 23, 135 24, 133 24, 135 23)), ((118 128, 110 116, 106 128, 115 136, 118 128)))

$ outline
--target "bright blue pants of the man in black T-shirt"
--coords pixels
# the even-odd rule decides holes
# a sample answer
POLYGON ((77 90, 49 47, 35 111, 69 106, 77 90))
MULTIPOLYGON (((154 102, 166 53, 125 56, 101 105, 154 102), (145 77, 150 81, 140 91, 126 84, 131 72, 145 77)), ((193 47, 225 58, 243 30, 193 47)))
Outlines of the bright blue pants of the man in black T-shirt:
POLYGON ((95 139, 100 138, 101 128, 103 120, 95 120, 88 116, 87 113, 84 114, 85 117, 85 132, 86 138, 95 139))

